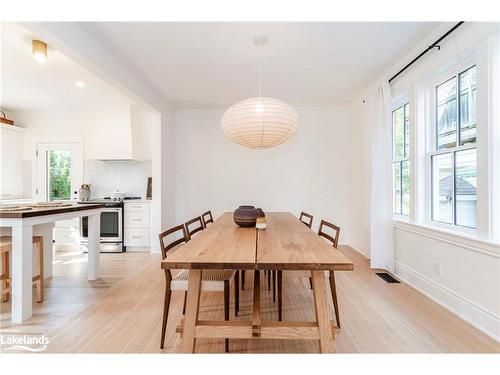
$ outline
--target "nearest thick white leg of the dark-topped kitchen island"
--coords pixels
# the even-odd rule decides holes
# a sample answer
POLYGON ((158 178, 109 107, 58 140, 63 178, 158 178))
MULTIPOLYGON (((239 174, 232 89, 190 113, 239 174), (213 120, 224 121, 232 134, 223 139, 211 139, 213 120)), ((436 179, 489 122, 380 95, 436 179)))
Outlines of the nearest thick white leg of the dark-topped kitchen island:
POLYGON ((12 227, 12 322, 33 314, 33 226, 12 227))

